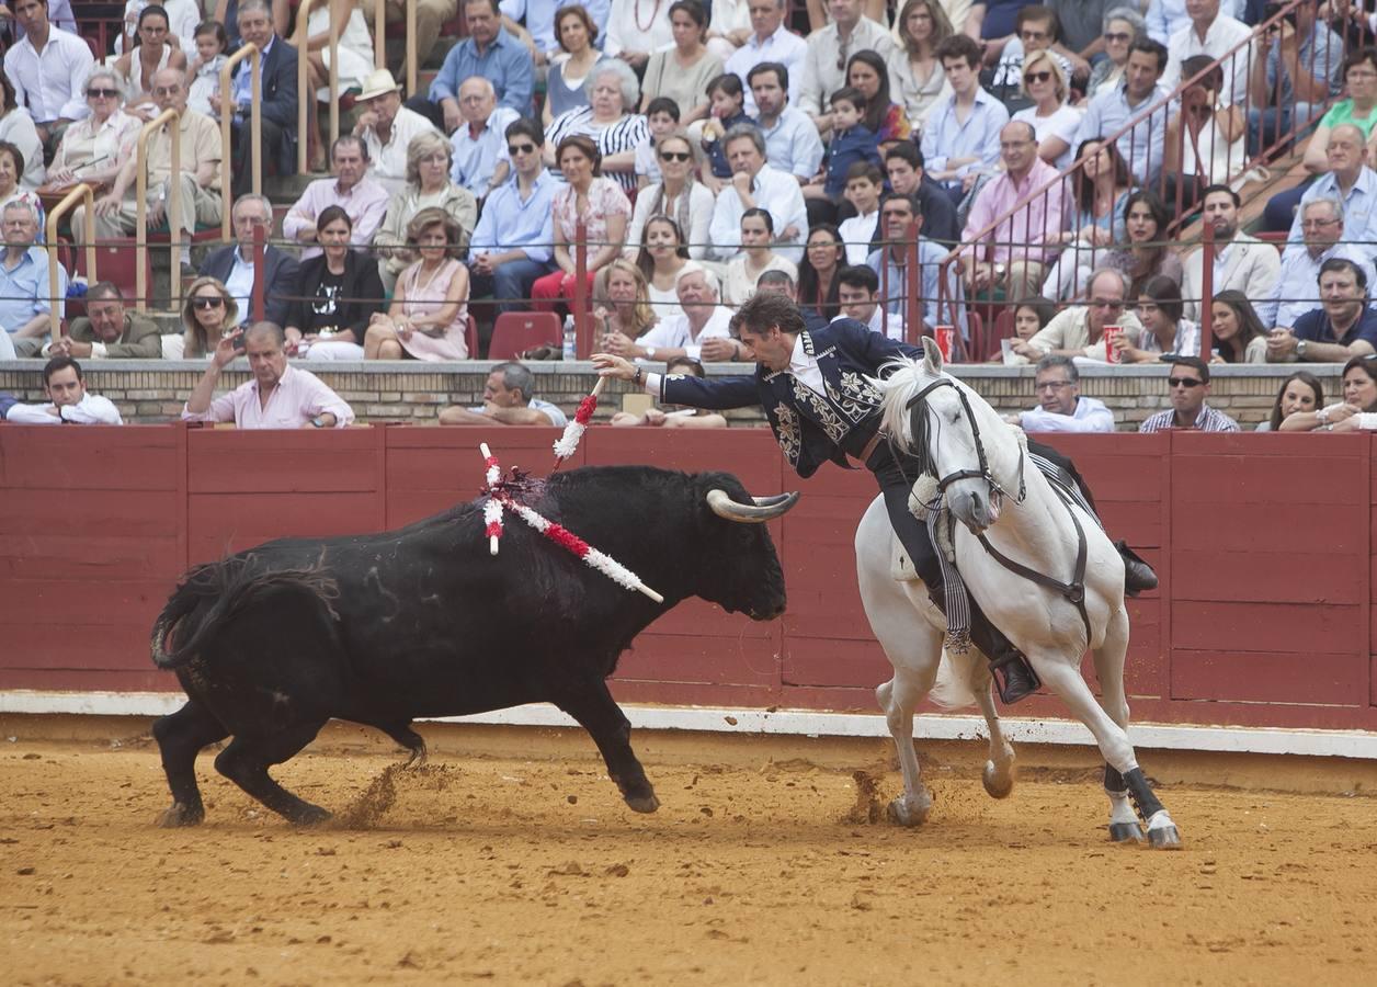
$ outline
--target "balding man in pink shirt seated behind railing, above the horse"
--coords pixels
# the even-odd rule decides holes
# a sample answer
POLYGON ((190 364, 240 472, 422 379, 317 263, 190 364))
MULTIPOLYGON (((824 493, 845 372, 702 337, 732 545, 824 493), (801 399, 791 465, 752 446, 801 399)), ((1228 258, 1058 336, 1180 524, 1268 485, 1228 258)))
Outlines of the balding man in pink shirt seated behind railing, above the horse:
POLYGON ((1037 135, 1023 120, 1000 131, 1000 158, 1004 173, 980 189, 971 205, 961 240, 971 242, 979 237, 982 246, 967 251, 963 267, 972 293, 1002 288, 1007 299, 1031 297, 1042 293, 1045 267, 1056 256, 1047 241, 1066 230, 1066 183, 1041 191, 1056 179, 1058 171, 1038 157, 1037 135), (1038 194, 1029 200, 1034 193, 1038 194), (993 235, 985 234, 1015 205, 1022 208, 1000 223, 993 235))

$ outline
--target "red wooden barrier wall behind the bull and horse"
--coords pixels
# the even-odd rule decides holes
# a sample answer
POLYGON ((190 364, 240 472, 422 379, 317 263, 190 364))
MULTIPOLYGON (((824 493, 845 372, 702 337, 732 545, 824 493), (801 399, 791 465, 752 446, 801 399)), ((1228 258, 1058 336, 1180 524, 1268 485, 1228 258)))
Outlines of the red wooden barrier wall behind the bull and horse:
MULTIPOLYGON (((547 472, 552 429, 0 428, 0 688, 172 690, 147 633, 191 563, 282 534, 395 527, 472 497, 476 443, 547 472)), ((1162 586, 1131 602, 1137 720, 1377 730, 1367 435, 1062 436, 1162 586)), ((855 588, 869 474, 799 480, 764 431, 595 428, 570 465, 730 469, 801 489, 771 526, 782 621, 690 602, 624 657, 628 701, 873 710, 888 664, 855 588)), ((682 551, 691 551, 683 546, 682 551)), ((592 577, 591 577, 592 578, 592 577)), ((1034 698, 1020 714, 1060 716, 1034 698)))

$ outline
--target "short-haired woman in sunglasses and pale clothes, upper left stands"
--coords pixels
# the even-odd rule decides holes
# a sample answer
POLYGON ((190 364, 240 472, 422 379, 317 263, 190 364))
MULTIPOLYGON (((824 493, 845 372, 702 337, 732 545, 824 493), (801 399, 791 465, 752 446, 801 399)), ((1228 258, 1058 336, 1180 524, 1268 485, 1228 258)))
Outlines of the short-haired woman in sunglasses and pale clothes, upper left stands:
MULTIPOLYGON (((62 187, 77 182, 88 182, 92 187, 107 184, 118 178, 134 157, 140 123, 123 109, 124 80, 120 74, 114 69, 96 66, 87 77, 84 92, 91 113, 63 132, 47 172, 51 186, 62 187)), ((33 150, 39 153, 41 168, 43 150, 37 139, 33 150)), ((25 160, 28 156, 29 151, 25 151, 25 160)), ((26 171, 26 178, 28 173, 26 171)))

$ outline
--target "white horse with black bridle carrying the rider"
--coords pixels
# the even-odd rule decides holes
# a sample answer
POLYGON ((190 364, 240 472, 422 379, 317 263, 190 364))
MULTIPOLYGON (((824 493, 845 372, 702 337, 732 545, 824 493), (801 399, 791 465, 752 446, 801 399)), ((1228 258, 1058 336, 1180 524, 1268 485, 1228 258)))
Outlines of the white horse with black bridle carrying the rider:
MULTIPOLYGON (((1022 431, 942 370, 931 339, 924 340, 924 351, 923 361, 902 361, 881 383, 885 428, 927 467, 923 479, 914 478, 914 500, 940 491, 945 509, 960 522, 952 544, 967 591, 1095 735, 1106 760, 1110 837, 1143 838, 1136 807, 1151 845, 1180 847, 1176 826, 1137 767, 1125 732, 1129 626, 1122 559, 1099 522, 1081 507, 1067 505, 1031 463, 1022 431), (1077 582, 1081 552, 1084 608, 1067 585, 1077 582), (1027 569, 1012 571, 1011 562, 1027 569), (1038 575, 1030 578, 1029 570, 1038 575), (1095 652, 1099 702, 1081 677, 1086 647, 1095 652)), ((913 710, 925 695, 947 708, 979 705, 990 730, 983 782, 996 798, 1013 790, 1013 747, 1000 730, 985 657, 974 647, 965 654, 943 650, 946 621, 921 582, 896 578, 896 546, 884 502, 876 497, 856 529, 856 570, 870 626, 894 665, 894 679, 876 690, 903 770, 905 793, 891 803, 890 814, 916 826, 932 807, 913 750, 913 710)))

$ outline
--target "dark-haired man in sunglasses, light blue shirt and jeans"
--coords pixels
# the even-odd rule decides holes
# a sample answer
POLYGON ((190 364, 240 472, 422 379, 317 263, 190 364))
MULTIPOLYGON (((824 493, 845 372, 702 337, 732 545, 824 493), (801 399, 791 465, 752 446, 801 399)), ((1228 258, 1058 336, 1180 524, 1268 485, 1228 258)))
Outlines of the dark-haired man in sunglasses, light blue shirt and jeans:
POLYGON ((487 197, 470 242, 468 273, 474 297, 494 297, 498 311, 526 308, 532 285, 554 267, 552 205, 563 187, 540 154, 545 139, 534 120, 507 127, 514 175, 487 197))

